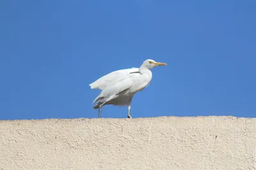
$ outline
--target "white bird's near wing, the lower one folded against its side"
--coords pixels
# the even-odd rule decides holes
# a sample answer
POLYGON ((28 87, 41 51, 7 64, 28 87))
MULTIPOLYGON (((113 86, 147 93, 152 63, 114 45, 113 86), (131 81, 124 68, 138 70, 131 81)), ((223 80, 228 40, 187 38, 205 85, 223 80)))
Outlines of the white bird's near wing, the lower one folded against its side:
POLYGON ((104 103, 109 101, 110 99, 115 99, 120 92, 123 92, 124 90, 129 89, 129 87, 132 86, 132 79, 129 76, 126 76, 120 81, 117 81, 116 83, 113 83, 113 85, 110 85, 103 89, 99 96, 96 97, 96 99, 92 102, 98 101, 99 99, 104 99, 104 103))

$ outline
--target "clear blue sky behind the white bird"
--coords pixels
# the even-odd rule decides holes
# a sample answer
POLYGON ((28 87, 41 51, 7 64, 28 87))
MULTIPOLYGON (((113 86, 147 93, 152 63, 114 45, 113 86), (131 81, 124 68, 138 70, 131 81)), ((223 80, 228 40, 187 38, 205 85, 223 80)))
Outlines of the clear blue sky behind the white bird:
POLYGON ((168 66, 134 118, 256 117, 255 0, 1 1, 0 20, 0 119, 96 118, 88 85, 145 59, 168 66))

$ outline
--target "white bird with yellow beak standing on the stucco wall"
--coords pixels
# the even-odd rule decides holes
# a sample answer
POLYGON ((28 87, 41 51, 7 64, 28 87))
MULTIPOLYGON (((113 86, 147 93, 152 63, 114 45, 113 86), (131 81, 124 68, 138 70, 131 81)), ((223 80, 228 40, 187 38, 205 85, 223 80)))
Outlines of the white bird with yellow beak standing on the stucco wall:
POLYGON ((101 117, 102 106, 113 104, 115 106, 128 106, 128 118, 131 117, 132 97, 148 86, 152 79, 151 68, 156 66, 165 66, 166 63, 156 62, 147 59, 140 68, 120 69, 102 76, 90 84, 91 89, 102 90, 92 103, 94 109, 99 109, 99 118, 101 117))

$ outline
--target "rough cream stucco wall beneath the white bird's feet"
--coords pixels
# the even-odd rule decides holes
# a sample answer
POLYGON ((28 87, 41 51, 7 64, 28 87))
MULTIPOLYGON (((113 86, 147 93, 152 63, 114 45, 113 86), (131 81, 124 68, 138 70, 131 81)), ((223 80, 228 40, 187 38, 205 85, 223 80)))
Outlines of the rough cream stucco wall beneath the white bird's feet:
POLYGON ((256 169, 256 118, 3 120, 6 169, 256 169))

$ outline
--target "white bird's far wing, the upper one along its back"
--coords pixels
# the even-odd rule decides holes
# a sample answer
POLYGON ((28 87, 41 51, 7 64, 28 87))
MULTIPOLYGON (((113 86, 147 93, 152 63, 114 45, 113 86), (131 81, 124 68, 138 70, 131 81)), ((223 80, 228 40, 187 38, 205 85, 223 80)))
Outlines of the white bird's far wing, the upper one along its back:
POLYGON ((132 72, 138 71, 138 68, 132 67, 130 69, 120 69, 117 71, 113 71, 105 76, 102 76, 98 80, 94 81, 90 84, 91 89, 100 89, 103 90, 109 85, 113 85, 118 81, 124 80, 129 77, 129 74, 132 72))

